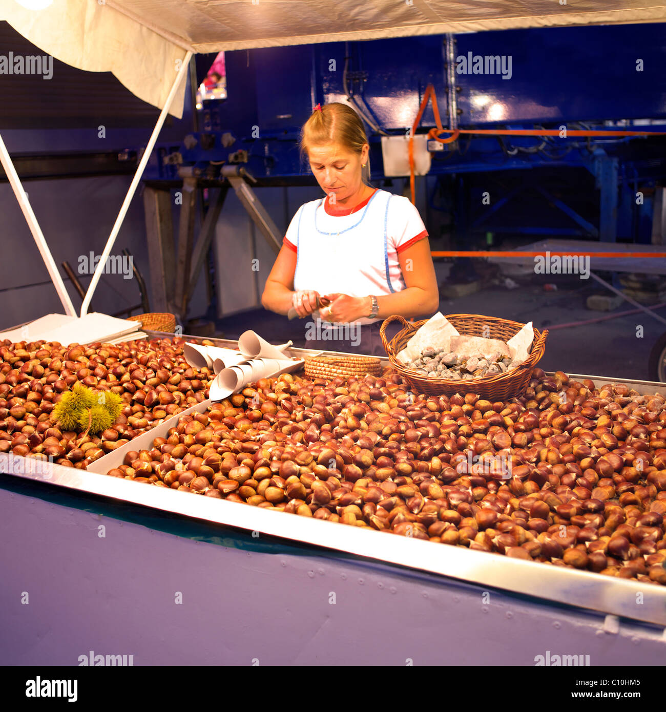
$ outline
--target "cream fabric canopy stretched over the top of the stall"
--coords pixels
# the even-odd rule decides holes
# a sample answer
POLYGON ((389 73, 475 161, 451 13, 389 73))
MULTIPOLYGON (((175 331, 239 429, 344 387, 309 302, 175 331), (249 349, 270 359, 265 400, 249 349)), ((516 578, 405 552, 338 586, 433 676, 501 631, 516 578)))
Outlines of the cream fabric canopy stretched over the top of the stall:
MULTIPOLYGON (((19 4, 19 1, 21 4, 19 4)), ((46 4, 41 0, 37 5, 46 4)), ((319 42, 525 27, 666 21, 652 0, 53 0, 43 10, 0 0, 0 20, 42 51, 110 71, 162 108, 185 51, 219 52, 319 42)), ((171 112, 182 116, 184 86, 171 112)))

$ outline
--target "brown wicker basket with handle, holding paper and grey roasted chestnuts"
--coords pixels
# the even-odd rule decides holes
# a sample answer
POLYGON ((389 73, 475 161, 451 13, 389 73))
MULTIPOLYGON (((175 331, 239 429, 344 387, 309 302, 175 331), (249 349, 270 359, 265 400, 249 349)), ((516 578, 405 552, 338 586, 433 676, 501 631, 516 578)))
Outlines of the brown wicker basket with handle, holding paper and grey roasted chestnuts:
MULTIPOLYGON (((447 320, 454 325, 459 334, 468 336, 486 336, 491 339, 508 341, 516 335, 524 324, 517 321, 499 319, 492 316, 482 316, 480 314, 449 314, 447 320), (484 329, 490 329, 490 333, 483 333, 484 329)), ((385 320, 380 328, 382 343, 391 362, 391 365, 404 377, 419 393, 429 396, 453 395, 455 393, 476 393, 477 395, 492 401, 504 401, 519 396, 527 387, 532 375, 534 366, 543 356, 546 350, 546 337, 548 330, 540 332, 534 329, 534 342, 527 359, 517 368, 493 376, 483 378, 469 378, 464 380, 448 378, 429 378, 407 368, 397 360, 395 355, 405 348, 407 342, 427 322, 427 319, 417 321, 413 324, 407 322, 400 315, 390 316, 385 320), (392 321, 399 321, 404 328, 400 330, 390 341, 386 337, 386 327, 392 321)))

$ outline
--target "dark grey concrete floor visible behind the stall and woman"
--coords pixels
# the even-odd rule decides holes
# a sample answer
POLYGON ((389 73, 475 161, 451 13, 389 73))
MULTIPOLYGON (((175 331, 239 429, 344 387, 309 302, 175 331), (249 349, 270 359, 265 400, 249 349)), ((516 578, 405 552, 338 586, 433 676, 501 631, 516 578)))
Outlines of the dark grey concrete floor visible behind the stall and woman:
MULTIPOLYGON (((447 280, 450 267, 449 263, 435 263, 440 285, 447 280)), ((489 284, 469 296, 440 300, 439 310, 444 315, 483 314, 522 323, 532 320, 536 328, 541 330, 613 313, 593 311, 586 307, 588 295, 604 293, 603 288, 592 279, 515 272, 512 278, 520 284, 520 288, 509 290, 499 284, 489 284), (546 282, 556 284, 557 290, 545 291, 543 285, 546 282)), ((625 302, 615 313, 633 308, 625 302)), ((657 310, 656 313, 666 318, 666 309, 657 310)), ((267 312, 263 308, 217 321, 217 330, 223 332, 226 338, 235 339, 246 329, 254 329, 274 343, 291 339, 296 346, 305 345, 303 321, 290 322, 286 317, 267 312)), ((650 351, 657 338, 665 332, 666 325, 645 313, 552 330, 539 366, 547 371, 562 370, 584 375, 648 380, 650 351), (641 325, 643 334, 638 337, 637 330, 641 325)))

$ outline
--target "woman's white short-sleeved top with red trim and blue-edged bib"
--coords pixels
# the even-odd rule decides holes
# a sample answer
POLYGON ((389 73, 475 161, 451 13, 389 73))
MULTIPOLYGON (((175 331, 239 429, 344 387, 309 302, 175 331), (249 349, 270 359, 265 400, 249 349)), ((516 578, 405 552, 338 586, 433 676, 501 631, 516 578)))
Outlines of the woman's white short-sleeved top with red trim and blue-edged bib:
POLYGON ((409 199, 378 189, 351 214, 328 198, 301 205, 283 244, 297 256, 294 289, 367 297, 405 289, 398 255, 427 236, 409 199))

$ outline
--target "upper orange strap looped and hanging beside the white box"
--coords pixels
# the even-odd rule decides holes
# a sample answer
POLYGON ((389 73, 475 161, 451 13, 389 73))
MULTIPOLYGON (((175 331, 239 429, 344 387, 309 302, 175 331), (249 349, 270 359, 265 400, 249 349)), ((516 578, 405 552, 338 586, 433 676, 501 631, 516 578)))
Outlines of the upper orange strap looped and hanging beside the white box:
MULTIPOLYGON (((414 123, 412 124, 412 129, 410 130, 409 158, 410 190, 412 192, 412 204, 416 204, 414 173, 414 135, 430 98, 432 98, 432 113, 435 116, 435 124, 437 124, 437 128, 430 129, 430 131, 428 132, 428 138, 438 141, 439 143, 452 143, 457 140, 460 134, 484 134, 489 136, 559 136, 561 134, 561 130, 558 129, 445 129, 444 127, 442 127, 442 121, 439 118, 439 107, 437 106, 437 95, 435 95, 435 86, 429 84, 425 88, 425 94, 423 95, 423 99, 421 100, 419 112, 417 113, 414 123), (448 133, 451 135, 447 138, 440 138, 439 134, 442 133, 448 133)), ((587 131, 580 129, 567 129, 566 137, 568 138, 570 136, 666 136, 666 133, 662 131, 587 131)), ((434 252, 432 254, 435 255, 434 252)))

